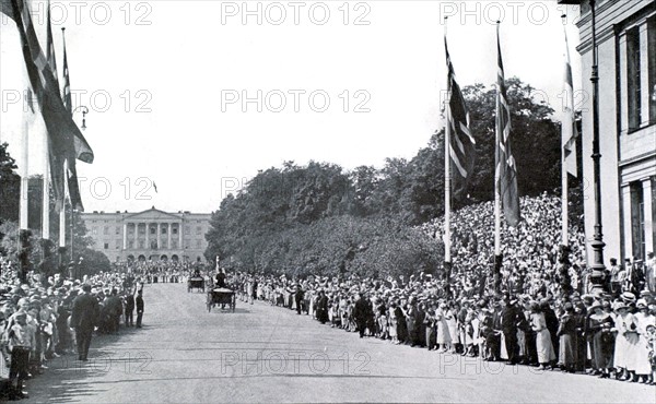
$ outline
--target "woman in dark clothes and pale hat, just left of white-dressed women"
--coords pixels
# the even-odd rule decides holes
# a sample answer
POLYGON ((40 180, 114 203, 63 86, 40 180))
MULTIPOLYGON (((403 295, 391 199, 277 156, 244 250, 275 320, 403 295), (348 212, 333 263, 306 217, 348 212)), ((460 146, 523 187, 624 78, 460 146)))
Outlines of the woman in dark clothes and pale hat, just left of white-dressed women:
POLYGON ((607 379, 613 367, 614 335, 611 329, 614 321, 610 313, 604 311, 604 306, 598 302, 590 307, 590 311, 593 313, 588 330, 593 334, 593 368, 600 373, 601 379, 607 379))

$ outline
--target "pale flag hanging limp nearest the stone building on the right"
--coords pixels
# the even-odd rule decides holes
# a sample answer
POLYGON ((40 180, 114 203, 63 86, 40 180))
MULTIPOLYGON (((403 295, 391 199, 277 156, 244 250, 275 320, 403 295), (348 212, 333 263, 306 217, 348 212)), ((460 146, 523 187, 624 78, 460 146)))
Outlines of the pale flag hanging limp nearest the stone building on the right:
MULTIPOLYGON (((564 25, 563 25, 564 28, 564 25)), ((565 76, 563 83, 564 91, 564 115, 562 122, 562 142, 563 142, 563 169, 576 177, 576 139, 578 131, 574 122, 574 86, 572 82, 572 64, 570 63, 570 46, 567 44, 567 32, 565 31, 565 76)))

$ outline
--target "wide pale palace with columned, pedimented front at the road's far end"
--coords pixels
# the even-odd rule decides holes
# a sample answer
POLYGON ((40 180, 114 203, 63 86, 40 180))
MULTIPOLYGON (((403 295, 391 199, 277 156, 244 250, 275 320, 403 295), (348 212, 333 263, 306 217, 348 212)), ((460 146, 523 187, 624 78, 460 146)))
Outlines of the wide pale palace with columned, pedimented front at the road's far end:
POLYGON ((211 214, 163 212, 155 206, 139 213, 81 214, 93 248, 109 261, 203 260, 211 214))

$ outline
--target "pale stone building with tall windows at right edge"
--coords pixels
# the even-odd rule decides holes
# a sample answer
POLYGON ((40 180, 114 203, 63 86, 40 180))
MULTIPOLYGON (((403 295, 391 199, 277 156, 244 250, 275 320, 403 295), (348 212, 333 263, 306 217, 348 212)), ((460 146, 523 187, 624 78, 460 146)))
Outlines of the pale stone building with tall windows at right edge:
MULTIPOLYGON (((585 231, 595 234, 593 13, 598 52, 599 183, 604 257, 645 260, 656 251, 656 2, 559 0, 579 4, 585 231)), ((590 243, 587 254, 594 257, 590 243)), ((588 259, 588 261, 590 260, 588 259)))

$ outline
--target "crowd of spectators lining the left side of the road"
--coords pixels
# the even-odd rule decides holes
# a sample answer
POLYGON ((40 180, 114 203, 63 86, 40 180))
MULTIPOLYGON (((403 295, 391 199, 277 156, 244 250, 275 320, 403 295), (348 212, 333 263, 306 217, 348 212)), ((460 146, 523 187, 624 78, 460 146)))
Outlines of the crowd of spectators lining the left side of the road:
POLYGON ((141 326, 144 281, 137 271, 82 280, 30 273, 21 283, 11 261, 0 257, 0 401, 26 397, 25 381, 48 360, 86 361, 94 334, 116 334, 121 322, 141 326))

